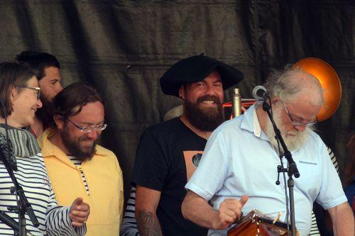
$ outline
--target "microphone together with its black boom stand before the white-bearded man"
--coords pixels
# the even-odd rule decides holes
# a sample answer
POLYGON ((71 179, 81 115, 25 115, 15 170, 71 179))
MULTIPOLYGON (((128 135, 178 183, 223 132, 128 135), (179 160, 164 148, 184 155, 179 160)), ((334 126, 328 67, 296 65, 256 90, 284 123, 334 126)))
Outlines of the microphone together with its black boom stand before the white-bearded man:
MULTIPOLYGON (((293 187, 295 186, 295 183, 293 181, 293 176, 295 178, 300 177, 300 172, 298 172, 297 165, 295 161, 292 158, 291 152, 288 150, 288 147, 286 147, 285 141, 283 140, 283 137, 281 136, 280 130, 275 124, 275 121, 273 120, 273 113, 271 109, 271 104, 268 103, 271 99, 269 98, 268 92, 266 91, 265 87, 263 86, 256 86, 253 89, 253 96, 256 99, 263 100, 263 111, 266 111, 268 113, 268 117, 271 120, 271 124, 273 125, 273 130, 275 132, 275 139, 278 140, 280 143, 281 147, 283 148, 283 155, 288 161, 288 191, 289 191, 289 196, 290 196, 290 218, 291 218, 291 232, 292 236, 296 235, 296 225, 295 225, 295 198, 293 195, 293 187)), ((283 155, 280 153, 280 159, 283 157, 283 155)), ((283 172, 284 169, 282 167, 278 167, 278 174, 280 172, 283 172)))

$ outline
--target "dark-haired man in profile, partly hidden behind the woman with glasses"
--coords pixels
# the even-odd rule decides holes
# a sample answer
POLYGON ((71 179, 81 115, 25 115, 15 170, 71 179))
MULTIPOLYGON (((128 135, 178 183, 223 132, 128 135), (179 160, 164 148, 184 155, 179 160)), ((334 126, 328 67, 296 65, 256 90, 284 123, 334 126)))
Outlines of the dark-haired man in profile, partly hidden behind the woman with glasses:
POLYGON ((38 74, 40 101, 43 107, 36 111, 35 123, 31 125, 33 134, 38 137, 53 124, 53 98, 62 90, 60 64, 54 55, 37 51, 23 51, 16 55, 16 61, 26 62, 38 74))

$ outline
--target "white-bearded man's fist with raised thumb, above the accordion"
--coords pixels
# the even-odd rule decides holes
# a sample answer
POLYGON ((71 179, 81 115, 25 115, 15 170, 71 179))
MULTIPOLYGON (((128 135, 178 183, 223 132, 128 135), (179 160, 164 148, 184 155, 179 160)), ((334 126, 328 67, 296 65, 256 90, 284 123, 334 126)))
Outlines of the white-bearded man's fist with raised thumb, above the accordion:
POLYGON ((234 198, 226 198, 219 205, 218 221, 214 225, 215 229, 222 230, 234 223, 241 216, 241 208, 244 207, 248 196, 244 195, 240 200, 234 198))

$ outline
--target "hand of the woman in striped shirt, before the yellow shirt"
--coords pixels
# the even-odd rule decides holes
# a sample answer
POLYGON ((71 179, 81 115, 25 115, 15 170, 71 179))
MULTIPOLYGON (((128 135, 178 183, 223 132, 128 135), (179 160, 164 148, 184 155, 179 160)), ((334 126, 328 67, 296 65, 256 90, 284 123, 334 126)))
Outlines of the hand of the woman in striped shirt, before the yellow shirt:
POLYGON ((72 226, 80 227, 86 223, 90 214, 90 206, 82 201, 82 198, 76 198, 70 206, 69 217, 72 220, 72 226))

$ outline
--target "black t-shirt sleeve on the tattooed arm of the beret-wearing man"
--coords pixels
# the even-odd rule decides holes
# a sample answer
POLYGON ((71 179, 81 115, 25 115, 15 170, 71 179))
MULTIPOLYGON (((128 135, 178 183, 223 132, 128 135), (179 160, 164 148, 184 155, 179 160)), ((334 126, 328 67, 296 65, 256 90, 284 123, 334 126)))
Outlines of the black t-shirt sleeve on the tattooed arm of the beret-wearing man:
POLYGON ((162 191, 168 174, 168 161, 165 159, 161 141, 148 129, 141 135, 133 167, 132 185, 162 191))

